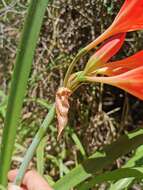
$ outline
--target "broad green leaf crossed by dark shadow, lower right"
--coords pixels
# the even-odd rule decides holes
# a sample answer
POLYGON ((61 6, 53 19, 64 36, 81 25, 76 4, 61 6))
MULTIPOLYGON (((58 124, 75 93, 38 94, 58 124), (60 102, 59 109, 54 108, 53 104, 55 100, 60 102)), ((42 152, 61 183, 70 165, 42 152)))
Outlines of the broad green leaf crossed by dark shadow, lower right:
POLYGON ((55 190, 69 190, 74 188, 97 171, 112 164, 120 156, 136 149, 143 143, 143 129, 120 137, 116 142, 104 148, 102 153, 95 153, 85 160, 83 164, 75 167, 71 172, 57 181, 53 186, 55 190))

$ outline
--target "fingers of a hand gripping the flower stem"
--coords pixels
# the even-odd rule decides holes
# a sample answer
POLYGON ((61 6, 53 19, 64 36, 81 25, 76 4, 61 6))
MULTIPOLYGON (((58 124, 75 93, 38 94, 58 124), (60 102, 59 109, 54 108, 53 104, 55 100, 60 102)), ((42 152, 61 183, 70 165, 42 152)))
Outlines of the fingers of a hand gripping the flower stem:
POLYGON ((22 186, 16 188, 12 185, 18 170, 12 170, 8 173, 8 179, 10 181, 8 190, 53 190, 48 183, 34 170, 28 171, 23 179, 22 186))

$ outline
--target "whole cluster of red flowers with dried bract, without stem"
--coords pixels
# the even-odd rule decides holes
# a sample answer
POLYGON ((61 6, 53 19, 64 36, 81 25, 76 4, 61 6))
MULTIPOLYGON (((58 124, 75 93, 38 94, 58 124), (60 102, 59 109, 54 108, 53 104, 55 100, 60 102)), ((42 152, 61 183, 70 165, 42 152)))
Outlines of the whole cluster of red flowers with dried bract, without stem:
POLYGON ((123 60, 110 61, 122 47, 126 33, 141 29, 143 29, 143 0, 125 0, 111 26, 77 54, 66 73, 64 87, 59 88, 56 94, 58 137, 68 122, 68 99, 83 83, 109 84, 143 100, 143 51, 123 60), (72 74, 81 56, 102 42, 104 43, 91 56, 84 70, 72 74))

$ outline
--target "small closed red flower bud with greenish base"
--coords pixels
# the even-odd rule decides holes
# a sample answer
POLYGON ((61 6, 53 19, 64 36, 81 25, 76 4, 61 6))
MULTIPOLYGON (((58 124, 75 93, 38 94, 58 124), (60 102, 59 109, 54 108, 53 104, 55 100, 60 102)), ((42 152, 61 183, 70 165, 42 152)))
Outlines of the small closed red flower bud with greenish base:
POLYGON ((99 50, 89 59, 85 67, 86 73, 90 71, 93 72, 95 68, 104 65, 104 63, 115 55, 122 47, 125 36, 126 33, 121 33, 106 40, 99 50))

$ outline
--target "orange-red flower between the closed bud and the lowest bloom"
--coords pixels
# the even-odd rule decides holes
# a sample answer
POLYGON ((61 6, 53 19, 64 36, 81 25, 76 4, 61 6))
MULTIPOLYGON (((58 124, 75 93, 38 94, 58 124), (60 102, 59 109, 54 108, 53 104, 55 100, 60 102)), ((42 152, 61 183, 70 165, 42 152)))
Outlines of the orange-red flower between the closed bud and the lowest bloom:
POLYGON ((143 51, 120 61, 106 63, 97 70, 97 73, 115 76, 141 66, 143 66, 143 51))

